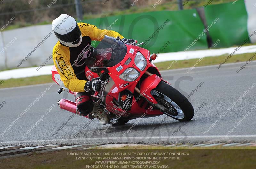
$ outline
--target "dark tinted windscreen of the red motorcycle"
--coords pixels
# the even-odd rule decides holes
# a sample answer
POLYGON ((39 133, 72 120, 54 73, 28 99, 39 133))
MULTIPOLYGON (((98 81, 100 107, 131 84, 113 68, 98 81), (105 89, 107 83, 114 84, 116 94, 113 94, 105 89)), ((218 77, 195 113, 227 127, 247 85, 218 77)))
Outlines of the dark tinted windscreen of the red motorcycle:
POLYGON ((86 63, 88 67, 112 67, 120 63, 126 53, 124 42, 105 35, 86 63))

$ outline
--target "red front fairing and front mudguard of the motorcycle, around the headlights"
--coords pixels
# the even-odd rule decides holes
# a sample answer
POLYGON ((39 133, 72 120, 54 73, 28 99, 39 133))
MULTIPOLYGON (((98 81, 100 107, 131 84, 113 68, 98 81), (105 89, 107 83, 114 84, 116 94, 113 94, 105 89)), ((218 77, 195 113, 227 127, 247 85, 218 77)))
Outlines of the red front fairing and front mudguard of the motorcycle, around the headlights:
MULTIPOLYGON (((119 115, 119 116, 122 115, 124 117, 128 117, 128 116, 137 116, 138 117, 138 116, 143 115, 145 112, 147 112, 147 115, 149 115, 149 116, 145 116, 145 117, 162 115, 163 113, 160 110, 148 109, 147 108, 148 102, 144 103, 142 105, 142 107, 140 107, 140 105, 143 102, 143 99, 140 99, 140 101, 138 101, 139 99, 137 97, 134 97, 134 95, 133 95, 134 89, 135 89, 138 81, 140 80, 142 75, 147 71, 147 69, 149 67, 156 68, 155 65, 153 65, 151 62, 149 62, 150 52, 148 50, 138 47, 138 46, 132 46, 132 45, 126 45, 126 46, 127 46, 127 54, 124 57, 123 61, 121 61, 119 64, 117 64, 113 67, 108 67, 108 71, 110 72, 108 74, 110 75, 110 77, 114 83, 113 83, 113 86, 111 87, 110 91, 106 95, 106 101, 105 101, 106 109, 116 115, 119 115), (148 62, 144 71, 141 71, 138 67, 135 66, 135 63, 134 63, 133 58, 136 56, 138 51, 144 55, 144 57, 146 58, 146 60, 148 62), (120 75, 124 72, 124 70, 129 67, 137 69, 140 72, 140 76, 135 81, 132 81, 132 82, 124 81, 123 79, 120 78, 120 75), (125 91, 125 92, 123 92, 123 91, 125 91), (121 97, 124 95, 126 95, 126 99, 124 99, 123 101, 120 101, 121 97), (121 102, 128 102, 127 100, 129 100, 129 103, 131 105, 130 109, 128 109, 128 110, 125 109, 124 108, 125 106, 123 106, 121 103, 121 102), (115 104, 115 102, 121 103, 121 105, 115 104), (149 111, 147 111, 147 110, 149 110, 149 111)), ((158 71, 157 68, 156 68, 156 70, 158 71)), ((152 76, 149 76, 148 78, 146 78, 141 85, 140 90, 143 91, 142 95, 144 95, 145 98, 147 98, 149 101, 151 101, 153 103, 157 103, 157 102, 153 98, 153 96, 150 94, 150 91, 153 88, 156 88, 156 86, 159 84, 159 82, 161 80, 162 79, 160 77, 158 77, 157 75, 152 75, 152 76), (153 84, 151 84, 151 83, 153 83, 153 84), (149 84, 151 84, 151 85, 148 88, 149 84), (149 99, 148 97, 150 97, 151 99, 149 99)), ((126 104, 126 108, 127 108, 127 104, 126 104)))

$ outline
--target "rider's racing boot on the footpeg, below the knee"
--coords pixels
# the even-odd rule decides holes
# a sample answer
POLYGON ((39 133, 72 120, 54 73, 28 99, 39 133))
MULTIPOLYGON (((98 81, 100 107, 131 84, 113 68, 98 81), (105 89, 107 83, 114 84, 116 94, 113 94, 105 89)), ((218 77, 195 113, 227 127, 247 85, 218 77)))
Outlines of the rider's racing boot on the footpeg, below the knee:
POLYGON ((89 114, 89 116, 99 119, 100 123, 103 125, 108 124, 110 119, 108 118, 106 112, 102 108, 100 108, 96 103, 93 104, 93 110, 92 113, 89 114))

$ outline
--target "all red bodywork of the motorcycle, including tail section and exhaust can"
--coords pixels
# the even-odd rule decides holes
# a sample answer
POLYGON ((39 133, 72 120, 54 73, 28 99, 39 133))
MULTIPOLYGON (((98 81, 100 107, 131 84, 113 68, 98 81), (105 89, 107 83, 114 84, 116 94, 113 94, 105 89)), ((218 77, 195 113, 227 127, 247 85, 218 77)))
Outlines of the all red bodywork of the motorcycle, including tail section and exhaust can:
MULTIPOLYGON (((125 44, 125 45, 127 47, 127 53, 124 56, 124 59, 113 67, 107 67, 108 74, 111 79, 110 80, 111 85, 109 86, 108 92, 105 93, 105 101, 103 101, 103 103, 105 103, 106 109, 116 114, 117 116, 130 117, 130 118, 138 118, 145 113, 147 113, 147 116, 145 117, 162 115, 163 113, 160 110, 153 109, 153 107, 150 106, 153 103, 157 103, 150 93, 151 90, 154 89, 159 84, 160 81, 164 81, 161 78, 161 74, 157 69, 157 67, 149 61, 150 52, 147 49, 144 49, 138 46, 133 46, 128 44, 125 44), (134 58, 138 52, 140 52, 146 58, 146 61, 147 61, 147 65, 143 71, 141 71, 135 65, 135 62, 134 62, 134 58), (120 75, 124 72, 124 70, 131 67, 139 71, 140 74, 137 77, 137 79, 134 81, 125 81, 121 79, 120 75), (150 72, 152 69, 153 71, 150 72), (141 91, 141 94, 145 96, 145 98, 148 99, 148 101, 150 101, 151 103, 148 103, 147 101, 145 101, 141 96, 139 98, 138 96, 136 97, 134 96, 135 87, 140 81, 143 74, 145 74, 147 70, 149 70, 149 72, 152 73, 153 75, 147 77, 142 81, 140 86, 140 91, 141 91), (128 105, 131 105, 131 106, 127 107, 127 103, 129 103, 128 105)), ((108 54, 103 56, 106 58, 108 54)), ((85 75, 88 80, 99 77, 101 73, 97 74, 95 72, 92 72, 87 66, 85 68, 85 75)), ((65 89, 65 86, 63 85, 63 82, 60 80, 60 75, 58 74, 55 67, 53 67, 52 69, 52 79, 59 86, 65 89)), ((69 92, 73 93, 70 90, 69 92)), ((66 100, 63 100, 63 99, 61 100, 61 103, 62 102, 63 104, 61 104, 62 106, 60 106, 61 109, 66 109, 68 111, 71 111, 69 110, 71 108, 72 109, 71 112, 75 111, 75 102, 73 103, 67 102, 66 100)))

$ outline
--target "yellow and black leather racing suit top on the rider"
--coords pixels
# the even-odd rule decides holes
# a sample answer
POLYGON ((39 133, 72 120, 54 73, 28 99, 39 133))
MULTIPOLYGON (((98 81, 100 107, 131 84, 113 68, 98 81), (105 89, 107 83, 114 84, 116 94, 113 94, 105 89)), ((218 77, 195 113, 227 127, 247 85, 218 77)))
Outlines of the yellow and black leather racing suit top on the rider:
POLYGON ((93 53, 92 40, 101 41, 105 35, 124 38, 111 30, 98 29, 86 23, 77 23, 82 33, 82 43, 77 47, 68 47, 57 42, 53 48, 53 62, 66 88, 73 92, 84 92, 86 83, 86 58, 93 53))

